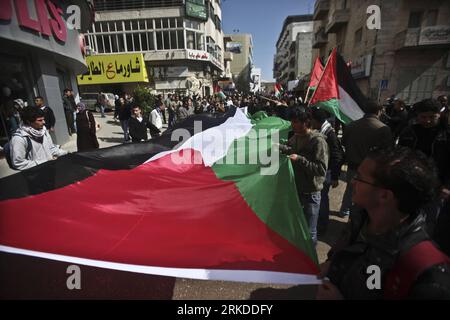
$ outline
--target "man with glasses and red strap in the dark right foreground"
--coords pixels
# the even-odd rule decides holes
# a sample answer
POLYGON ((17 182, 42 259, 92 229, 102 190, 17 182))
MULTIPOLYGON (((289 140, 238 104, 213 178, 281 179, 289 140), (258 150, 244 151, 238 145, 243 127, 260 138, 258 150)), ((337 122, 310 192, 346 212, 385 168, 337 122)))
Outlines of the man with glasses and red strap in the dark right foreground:
POLYGON ((353 178, 355 213, 321 266, 319 299, 450 299, 450 259, 430 241, 420 208, 436 168, 409 148, 369 153, 353 178))

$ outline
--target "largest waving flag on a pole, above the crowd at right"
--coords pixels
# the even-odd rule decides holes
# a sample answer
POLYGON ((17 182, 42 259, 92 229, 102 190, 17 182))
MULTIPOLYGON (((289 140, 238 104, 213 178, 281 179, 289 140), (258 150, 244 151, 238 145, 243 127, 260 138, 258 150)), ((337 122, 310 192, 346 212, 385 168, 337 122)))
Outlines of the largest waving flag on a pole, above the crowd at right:
POLYGON ((344 59, 334 49, 309 105, 323 108, 348 124, 364 116, 366 101, 344 59))

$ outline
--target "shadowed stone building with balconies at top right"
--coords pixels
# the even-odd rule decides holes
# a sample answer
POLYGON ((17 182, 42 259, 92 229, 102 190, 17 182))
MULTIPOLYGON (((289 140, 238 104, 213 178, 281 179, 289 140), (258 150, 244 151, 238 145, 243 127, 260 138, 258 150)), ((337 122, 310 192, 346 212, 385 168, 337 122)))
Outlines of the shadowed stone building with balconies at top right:
MULTIPOLYGON (((450 2, 319 0, 313 47, 337 47, 364 94, 407 103, 450 93, 450 2), (367 8, 381 9, 381 29, 367 27, 367 8)), ((314 57, 315 58, 315 57, 314 57)))

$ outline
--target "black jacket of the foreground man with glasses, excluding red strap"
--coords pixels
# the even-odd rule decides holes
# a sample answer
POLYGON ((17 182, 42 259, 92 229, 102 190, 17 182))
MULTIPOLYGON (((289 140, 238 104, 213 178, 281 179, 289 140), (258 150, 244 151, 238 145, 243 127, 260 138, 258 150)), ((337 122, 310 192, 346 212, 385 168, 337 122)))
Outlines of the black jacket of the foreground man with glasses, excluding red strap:
MULTIPOLYGON (((425 216, 418 215, 396 230, 381 236, 366 231, 368 215, 355 213, 353 220, 329 253, 327 277, 346 299, 383 299, 383 284, 400 255, 421 241, 429 240, 425 216), (381 289, 370 290, 367 273, 370 265, 381 270, 381 289)), ((450 299, 450 266, 441 264, 425 270, 414 282, 409 299, 450 299)))

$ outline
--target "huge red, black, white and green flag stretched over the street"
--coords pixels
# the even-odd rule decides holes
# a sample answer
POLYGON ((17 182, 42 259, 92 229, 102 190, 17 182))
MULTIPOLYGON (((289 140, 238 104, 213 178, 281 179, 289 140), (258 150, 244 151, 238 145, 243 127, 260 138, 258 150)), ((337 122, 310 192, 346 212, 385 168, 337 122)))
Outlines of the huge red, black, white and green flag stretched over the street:
POLYGON ((1 179, 0 251, 169 277, 318 283, 291 163, 272 147, 274 130, 286 138, 289 126, 239 109, 198 115, 148 143, 1 179))

